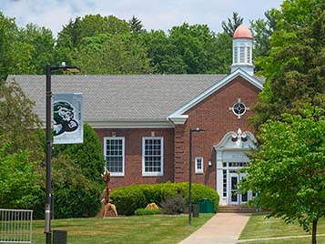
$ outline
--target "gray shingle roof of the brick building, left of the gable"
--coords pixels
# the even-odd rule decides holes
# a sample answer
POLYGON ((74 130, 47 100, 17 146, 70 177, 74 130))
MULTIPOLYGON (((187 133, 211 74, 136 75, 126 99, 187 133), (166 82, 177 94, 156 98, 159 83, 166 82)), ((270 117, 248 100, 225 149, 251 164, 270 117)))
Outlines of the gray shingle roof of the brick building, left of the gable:
MULTIPOLYGON (((166 121, 227 75, 52 76, 53 93, 83 93, 84 119, 90 121, 166 121)), ((46 76, 8 76, 36 102, 45 121, 46 76)))

